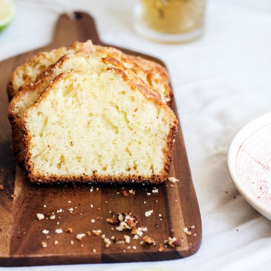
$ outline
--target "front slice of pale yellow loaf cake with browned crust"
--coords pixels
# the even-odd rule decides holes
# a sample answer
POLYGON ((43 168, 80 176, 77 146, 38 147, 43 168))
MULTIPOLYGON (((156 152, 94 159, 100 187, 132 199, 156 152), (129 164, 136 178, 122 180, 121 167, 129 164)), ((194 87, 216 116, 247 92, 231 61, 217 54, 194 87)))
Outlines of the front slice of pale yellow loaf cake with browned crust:
POLYGON ((32 182, 166 180, 177 120, 118 68, 63 73, 21 121, 32 182))

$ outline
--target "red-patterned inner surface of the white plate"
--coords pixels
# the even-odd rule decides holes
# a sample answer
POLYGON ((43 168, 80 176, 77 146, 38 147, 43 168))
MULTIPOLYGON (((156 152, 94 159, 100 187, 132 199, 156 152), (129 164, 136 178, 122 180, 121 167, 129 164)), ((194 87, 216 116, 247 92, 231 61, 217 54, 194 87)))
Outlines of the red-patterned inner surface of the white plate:
POLYGON ((271 124, 249 135, 240 145, 236 172, 256 201, 271 207, 271 124))

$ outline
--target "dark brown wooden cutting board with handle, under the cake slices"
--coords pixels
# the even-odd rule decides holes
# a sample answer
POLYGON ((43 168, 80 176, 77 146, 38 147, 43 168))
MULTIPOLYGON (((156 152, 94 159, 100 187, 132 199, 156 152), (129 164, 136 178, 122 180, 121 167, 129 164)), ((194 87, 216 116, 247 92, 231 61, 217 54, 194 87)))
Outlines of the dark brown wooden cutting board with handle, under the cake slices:
MULTIPOLYGON (((38 185, 32 184, 25 172, 16 169, 7 120, 8 98, 5 87, 8 77, 14 68, 40 51, 68 46, 75 40, 92 39, 94 44, 105 45, 99 39, 94 20, 88 14, 75 12, 75 17, 74 20, 66 15, 59 18, 50 45, 0 63, 0 185, 3 185, 0 190, 0 266, 160 261, 190 256, 200 247, 202 225, 180 126, 169 173, 169 176, 180 181, 173 186, 169 181, 156 186, 38 185), (153 193, 152 190, 156 188, 158 193, 153 193), (122 190, 127 191, 127 197, 123 196, 122 190), (72 214, 68 210, 71 207, 72 214), (63 211, 57 212, 60 209, 63 211), (123 240, 125 234, 131 236, 127 231, 112 231, 112 225, 106 222, 112 213, 129 210, 138 215, 138 225, 148 229, 144 236, 154 238, 156 246, 140 245, 142 237, 138 240, 131 237, 131 242, 125 244, 112 241, 109 248, 105 247, 101 236, 86 235, 81 241, 76 239, 77 234, 86 234, 92 230, 102 230, 106 237, 115 236, 116 240, 123 240), (146 217, 145 211, 149 210, 153 210, 153 213, 146 217), (55 213, 54 220, 38 220, 36 217, 37 213, 52 212, 55 213), (102 220, 97 217, 102 217, 102 220), (92 219, 95 219, 94 223, 92 219), (188 236, 183 229, 191 226, 192 234, 188 236), (72 228, 73 232, 65 232, 67 227, 72 228), (62 229, 63 233, 56 234, 56 229, 62 229), (43 234, 43 230, 48 230, 49 234, 43 234), (47 239, 47 236, 50 238, 47 239), (171 236, 182 238, 182 245, 158 251, 159 244, 171 236), (58 241, 57 245, 54 245, 55 240, 58 241), (74 244, 71 244, 71 240, 74 244), (41 246, 42 241, 47 242, 47 247, 41 246)), ((163 64, 153 57, 120 49, 163 64)), ((172 109, 177 116, 174 100, 172 109)))

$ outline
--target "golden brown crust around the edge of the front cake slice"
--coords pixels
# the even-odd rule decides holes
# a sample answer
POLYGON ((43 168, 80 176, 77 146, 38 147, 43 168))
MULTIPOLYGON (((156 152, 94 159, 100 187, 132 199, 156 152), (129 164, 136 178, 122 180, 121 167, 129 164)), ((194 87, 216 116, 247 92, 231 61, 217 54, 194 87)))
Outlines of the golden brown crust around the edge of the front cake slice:
MULTIPOLYGON (((29 131, 27 130, 27 113, 30 110, 30 108, 34 106, 38 106, 38 103, 41 102, 51 91, 51 89, 54 87, 54 85, 62 80, 65 79, 66 76, 68 76, 69 73, 62 73, 58 75, 54 81, 43 91, 42 95, 40 96, 40 99, 38 102, 36 102, 32 107, 30 107, 26 112, 24 113, 23 117, 21 118, 20 123, 20 129, 22 131, 23 135, 23 142, 24 142, 24 153, 25 153, 25 168, 28 172, 28 177, 31 182, 39 182, 39 183, 65 183, 65 182, 102 182, 102 183, 152 183, 152 184, 158 184, 163 181, 165 181, 169 174, 169 169, 172 161, 172 154, 173 154, 173 139, 177 133, 177 119, 173 113, 173 111, 161 100, 157 99, 157 97, 153 95, 149 95, 148 90, 143 90, 143 86, 138 87, 134 82, 132 82, 128 76, 125 74, 125 72, 118 68, 110 67, 108 68, 111 72, 114 72, 116 75, 121 75, 121 78, 128 82, 130 87, 134 91, 141 92, 144 97, 156 103, 158 106, 164 107, 165 110, 168 111, 170 118, 172 119, 172 126, 170 128, 170 132, 167 138, 166 148, 164 149, 165 153, 165 160, 164 160, 164 169, 161 171, 161 174, 159 175, 150 175, 150 176, 139 176, 139 175, 120 175, 120 176, 106 176, 106 175, 96 175, 95 172, 93 172, 92 175, 86 176, 85 174, 78 175, 78 176, 57 176, 57 175, 50 175, 50 176, 44 176, 41 174, 34 174, 33 169, 34 165, 31 161, 31 152, 30 152, 30 141, 31 141, 31 135, 29 131)), ((78 71, 77 73, 80 73, 78 71)))

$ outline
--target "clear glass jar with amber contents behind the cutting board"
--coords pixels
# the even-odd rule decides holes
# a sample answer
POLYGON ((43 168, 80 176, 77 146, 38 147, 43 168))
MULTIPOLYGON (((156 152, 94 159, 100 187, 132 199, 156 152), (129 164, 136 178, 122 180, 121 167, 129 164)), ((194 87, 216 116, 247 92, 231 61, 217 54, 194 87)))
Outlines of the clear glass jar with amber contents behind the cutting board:
POLYGON ((203 34, 206 0, 139 0, 137 33, 161 42, 186 42, 203 34))

